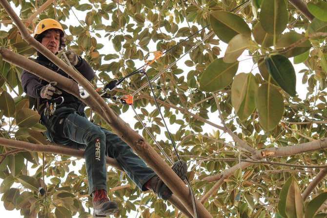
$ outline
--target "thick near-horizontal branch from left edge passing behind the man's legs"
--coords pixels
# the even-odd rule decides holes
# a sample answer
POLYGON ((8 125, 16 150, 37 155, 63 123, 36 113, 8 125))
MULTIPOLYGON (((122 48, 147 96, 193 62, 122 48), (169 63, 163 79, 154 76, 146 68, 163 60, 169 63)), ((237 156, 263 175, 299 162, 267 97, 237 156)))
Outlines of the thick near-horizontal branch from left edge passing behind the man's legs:
MULTIPOLYGON (((33 144, 26 141, 18 141, 13 139, 5 139, 0 137, 0 145, 11 148, 23 149, 30 152, 44 152, 44 153, 53 153, 66 156, 73 156, 84 158, 84 151, 64 147, 61 145, 44 145, 44 144, 33 144)), ((113 166, 121 171, 123 171, 120 164, 112 158, 106 157, 106 161, 110 166, 113 166)))

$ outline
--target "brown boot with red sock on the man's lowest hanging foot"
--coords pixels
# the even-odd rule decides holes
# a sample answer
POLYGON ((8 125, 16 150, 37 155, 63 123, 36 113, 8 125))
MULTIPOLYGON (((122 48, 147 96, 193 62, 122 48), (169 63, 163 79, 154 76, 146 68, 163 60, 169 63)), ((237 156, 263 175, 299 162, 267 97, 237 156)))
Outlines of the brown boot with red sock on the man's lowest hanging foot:
POLYGON ((93 217, 106 217, 118 211, 115 201, 109 200, 104 189, 96 190, 92 193, 93 197, 93 217))

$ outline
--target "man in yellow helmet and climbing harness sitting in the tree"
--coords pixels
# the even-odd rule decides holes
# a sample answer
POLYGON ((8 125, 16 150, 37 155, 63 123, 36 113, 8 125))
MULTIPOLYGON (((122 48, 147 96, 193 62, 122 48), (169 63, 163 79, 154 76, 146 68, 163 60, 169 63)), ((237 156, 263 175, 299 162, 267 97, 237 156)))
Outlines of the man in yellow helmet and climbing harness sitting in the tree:
MULTIPOLYGON (((53 19, 41 20, 36 26, 34 38, 53 54, 57 54, 65 46, 61 24, 53 19)), ((85 59, 73 51, 66 51, 65 54, 86 79, 94 78, 95 73, 85 59)), ((68 78, 66 73, 41 53, 38 52, 35 61, 68 78)), ((34 105, 41 115, 41 122, 47 127, 47 138, 56 143, 68 146, 79 144, 85 148, 84 157, 94 216, 102 217, 118 211, 117 203, 107 197, 105 155, 116 159, 141 190, 152 190, 163 199, 171 197, 169 188, 122 139, 86 119, 85 104, 79 99, 57 88, 56 82, 49 83, 27 71, 23 71, 21 83, 24 92, 35 99, 34 105)), ((176 162, 172 168, 179 177, 186 173, 182 161, 176 162)))

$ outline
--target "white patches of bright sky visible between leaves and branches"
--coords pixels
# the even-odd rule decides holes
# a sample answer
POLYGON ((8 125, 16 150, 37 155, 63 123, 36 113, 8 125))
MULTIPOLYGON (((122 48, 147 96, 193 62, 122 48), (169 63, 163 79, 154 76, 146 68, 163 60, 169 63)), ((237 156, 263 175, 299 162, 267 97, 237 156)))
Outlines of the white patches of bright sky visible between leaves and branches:
MULTIPOLYGON (((84 2, 85 3, 88 3, 88 1, 86 1, 86 0, 81 1, 81 3, 84 3, 84 2)), ((17 10, 19 11, 19 8, 17 10)), ((73 10, 74 10, 74 12, 77 14, 77 16, 81 20, 84 19, 85 14, 86 14, 85 12, 81 12, 81 11, 78 11, 76 9, 73 9, 73 10)), ((76 18, 73 16, 73 14, 71 14, 70 19, 69 20, 66 20, 64 23, 65 24, 74 25, 74 26, 80 25, 78 23, 78 21, 76 20, 76 18)), ((181 24, 180 26, 187 26, 187 25, 186 25, 186 23, 184 23, 184 24, 181 24)), ((3 29, 4 28, 1 27, 1 30, 3 30, 3 29)), ((68 30, 66 30, 66 31, 68 31, 68 30)), ((109 47, 109 49, 112 48, 112 46, 110 44, 108 46, 108 40, 107 40, 107 38, 106 39, 98 39, 98 42, 100 42, 100 43, 102 43, 102 44, 105 45, 105 47, 102 49, 102 53, 106 53, 105 51, 108 51, 108 47, 109 47)), ((155 49, 156 48, 155 47, 155 43, 152 42, 152 44, 150 44, 149 47, 150 48, 152 47, 153 49, 155 49)), ((225 49, 227 47, 227 44, 225 44, 224 42, 220 41, 219 47, 222 50, 220 57, 223 57, 224 56, 224 53, 225 53, 225 49)), ((110 53, 115 53, 115 51, 112 51, 110 53)), ((187 59, 189 59, 188 56, 185 56, 183 59, 179 60, 179 62, 178 62, 179 68, 183 68, 186 73, 189 72, 189 70, 194 70, 194 67, 187 67, 187 66, 184 65, 184 61, 187 60, 187 59)), ((244 60, 244 61, 241 61, 240 62, 238 73, 243 73, 243 72, 249 73, 251 71, 253 62, 252 62, 251 59, 249 59, 249 56, 247 56, 247 51, 245 51, 243 53, 243 55, 239 58, 239 60, 244 60)), ((292 59, 291 59, 291 61, 293 62, 292 59)), ((141 61, 139 63, 136 62, 136 67, 137 66, 141 66, 141 65, 143 65, 143 63, 141 61)), ((304 64, 296 64, 296 65, 294 64, 294 68, 295 68, 295 72, 297 73, 300 70, 305 69, 306 67, 305 67, 304 64)), ((258 68, 255 68, 252 71, 252 73, 253 74, 259 73, 258 68)), ((301 82, 302 81, 302 74, 298 74, 297 73, 296 75, 297 75, 296 91, 299 94, 299 97, 301 99, 305 99, 306 98, 305 95, 306 95, 307 92, 306 92, 306 88, 302 85, 302 82, 301 82)), ((148 109, 148 111, 151 111, 151 110, 153 110, 153 108, 152 109, 148 109)), ((124 116, 123 116, 123 119, 128 120, 128 123, 130 124, 130 126, 132 128, 134 127, 134 123, 137 121, 137 120, 134 119, 134 115, 135 114, 133 113, 133 111, 131 109, 129 109, 129 112, 128 113, 125 113, 124 116), (131 121, 131 120, 134 120, 134 121, 131 121)), ((209 117, 210 117, 210 121, 211 122, 214 122, 214 123, 217 123, 217 124, 220 124, 221 123, 220 120, 218 119, 217 113, 215 113, 215 114, 209 114, 209 117)), ((167 120, 166 120, 166 122, 167 122, 167 120)), ((167 124, 169 125, 169 122, 167 122, 167 124)), ((171 128, 171 130, 173 132, 178 127, 169 127, 169 128, 171 128)), ((213 130, 216 130, 216 129, 213 129, 213 127, 212 126, 209 126, 208 124, 205 124, 204 125, 204 132, 211 133, 213 130)), ((166 140, 166 138, 164 136, 159 137, 159 139, 166 140)), ((77 165, 76 172, 77 172, 78 166, 79 165, 77 165)), ((31 175, 33 175, 32 172, 31 172, 31 175)), ((0 179, 0 183, 1 182, 2 182, 2 180, 0 179)), ((0 197, 1 196, 2 195, 0 195, 0 197)), ((3 217, 15 217, 15 218, 22 217, 20 215, 20 212, 19 211, 16 211, 16 210, 14 210, 14 211, 7 211, 7 210, 5 210, 4 207, 3 207, 3 202, 2 201, 0 201, 0 212, 1 212, 1 216, 3 216, 3 217)), ((134 213, 130 214, 130 216, 131 217, 136 217, 137 215, 134 212, 134 213)), ((140 215, 138 215, 138 216, 140 216, 140 215)), ((75 217, 78 217, 78 216, 75 216, 75 217)))

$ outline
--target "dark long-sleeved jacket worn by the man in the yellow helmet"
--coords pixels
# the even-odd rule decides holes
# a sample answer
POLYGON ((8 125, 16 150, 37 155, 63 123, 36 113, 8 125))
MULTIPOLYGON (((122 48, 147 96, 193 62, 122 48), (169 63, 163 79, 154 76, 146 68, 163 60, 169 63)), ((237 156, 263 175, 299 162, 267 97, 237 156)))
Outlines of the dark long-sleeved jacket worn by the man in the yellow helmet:
MULTIPOLYGON (((64 77, 70 78, 65 72, 63 72, 58 66, 52 63, 42 54, 38 55, 37 59, 35 59, 35 62, 40 63, 41 65, 49 68, 52 71, 57 72, 58 74, 61 74, 64 77)), ((91 66, 81 57, 79 57, 79 62, 75 66, 75 68, 88 80, 92 80, 95 76, 95 73, 92 70, 91 66)), ((34 103, 35 108, 37 107, 37 101, 39 101, 40 108, 38 108, 38 111, 41 115, 42 124, 47 127, 48 131, 46 132, 46 135, 51 141, 56 141, 56 138, 60 137, 58 134, 62 132, 62 130, 59 129, 61 126, 59 125, 59 121, 71 113, 79 113, 80 115, 83 115, 85 104, 82 103, 82 101, 80 101, 75 96, 61 90, 62 94, 54 94, 52 96, 52 99, 63 97, 64 102, 61 105, 57 106, 55 114, 48 118, 43 113, 45 102, 48 101, 48 99, 42 99, 40 96, 41 88, 47 84, 49 84, 49 82, 39 78, 34 74, 31 74, 28 71, 24 70, 22 72, 21 85, 23 87, 23 90, 29 97, 34 98, 36 100, 36 102, 34 103)))

